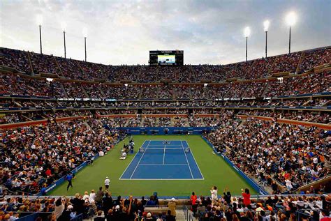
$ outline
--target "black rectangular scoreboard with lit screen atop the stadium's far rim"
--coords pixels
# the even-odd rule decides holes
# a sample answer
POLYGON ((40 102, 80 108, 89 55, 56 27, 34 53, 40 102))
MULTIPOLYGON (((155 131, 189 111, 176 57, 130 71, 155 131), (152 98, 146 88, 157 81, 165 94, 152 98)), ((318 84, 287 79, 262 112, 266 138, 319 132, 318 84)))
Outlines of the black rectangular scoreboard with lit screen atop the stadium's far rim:
POLYGON ((150 66, 182 66, 184 65, 184 51, 149 51, 150 66))

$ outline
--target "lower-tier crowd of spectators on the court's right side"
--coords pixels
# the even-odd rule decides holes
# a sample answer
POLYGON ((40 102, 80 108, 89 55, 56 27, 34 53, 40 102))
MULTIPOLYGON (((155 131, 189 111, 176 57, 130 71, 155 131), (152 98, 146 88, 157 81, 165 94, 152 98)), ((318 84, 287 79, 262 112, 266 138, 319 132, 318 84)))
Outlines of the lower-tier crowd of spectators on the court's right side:
POLYGON ((268 185, 275 180, 296 190, 331 173, 330 137, 318 128, 249 118, 207 137, 243 172, 268 185))

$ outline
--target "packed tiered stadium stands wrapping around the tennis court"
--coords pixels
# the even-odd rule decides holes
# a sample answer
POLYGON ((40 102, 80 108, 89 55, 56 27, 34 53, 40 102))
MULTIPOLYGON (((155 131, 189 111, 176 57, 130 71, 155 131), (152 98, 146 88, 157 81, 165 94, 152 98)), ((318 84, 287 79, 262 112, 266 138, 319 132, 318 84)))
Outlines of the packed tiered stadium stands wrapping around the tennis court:
MULTIPOLYGON (((112 148, 119 128, 208 127, 216 151, 270 193, 296 192, 331 174, 330 61, 323 47, 217 66, 108 66, 1 47, 1 184, 40 192, 112 148)), ((255 199, 247 210, 241 198, 211 206, 200 197, 195 214, 217 220, 219 206, 226 216, 230 208, 238 218, 261 210, 290 218, 304 204, 313 217, 322 198, 255 199)), ((54 199, 10 200, 13 211, 56 207, 54 199)))

